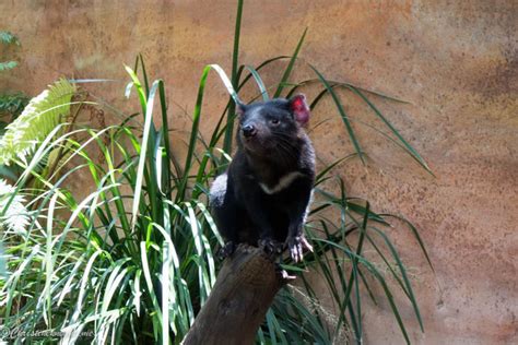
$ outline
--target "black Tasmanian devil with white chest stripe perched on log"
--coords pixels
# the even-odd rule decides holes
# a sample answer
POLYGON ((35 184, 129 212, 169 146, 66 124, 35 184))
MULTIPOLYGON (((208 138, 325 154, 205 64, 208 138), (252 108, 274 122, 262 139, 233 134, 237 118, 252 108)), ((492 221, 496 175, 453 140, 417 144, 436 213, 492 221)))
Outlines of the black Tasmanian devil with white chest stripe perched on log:
POLYGON ((304 131, 309 107, 304 95, 238 105, 237 152, 210 191, 213 216, 226 240, 281 252, 294 261, 311 250, 303 234, 315 179, 315 152, 304 131))

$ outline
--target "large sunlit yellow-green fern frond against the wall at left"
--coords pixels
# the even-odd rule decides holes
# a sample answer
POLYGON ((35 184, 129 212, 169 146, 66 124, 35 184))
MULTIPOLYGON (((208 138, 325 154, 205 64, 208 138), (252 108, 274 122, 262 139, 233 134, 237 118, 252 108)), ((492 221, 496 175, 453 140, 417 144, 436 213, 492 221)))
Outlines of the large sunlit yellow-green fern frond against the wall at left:
POLYGON ((37 144, 69 115, 74 93, 75 87, 62 79, 31 99, 0 139, 0 164, 9 165, 15 157, 25 162, 37 144))

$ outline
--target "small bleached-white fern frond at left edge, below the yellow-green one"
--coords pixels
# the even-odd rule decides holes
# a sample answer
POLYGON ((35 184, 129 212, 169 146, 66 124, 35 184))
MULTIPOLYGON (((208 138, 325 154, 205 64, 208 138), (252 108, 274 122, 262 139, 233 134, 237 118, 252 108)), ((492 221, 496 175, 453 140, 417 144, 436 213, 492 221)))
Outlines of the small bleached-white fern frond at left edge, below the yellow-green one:
POLYGON ((2 214, 14 191, 14 187, 5 182, 5 180, 0 180, 0 229, 23 235, 26 231, 30 221, 27 209, 24 206, 25 200, 23 197, 16 194, 5 213, 2 214))

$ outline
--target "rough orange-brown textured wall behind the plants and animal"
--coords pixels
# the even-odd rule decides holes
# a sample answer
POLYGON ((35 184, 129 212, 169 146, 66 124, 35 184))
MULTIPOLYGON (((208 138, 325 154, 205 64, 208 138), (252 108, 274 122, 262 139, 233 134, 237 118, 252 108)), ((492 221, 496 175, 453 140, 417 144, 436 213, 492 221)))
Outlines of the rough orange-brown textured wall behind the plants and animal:
MULTIPOLYGON (((19 35, 21 67, 0 90, 40 91, 60 75, 119 82, 91 88, 121 103, 122 62, 137 52, 169 86, 174 123, 186 123, 205 63, 229 68, 234 1, 0 2, 0 28, 19 35), (170 87, 173 86, 173 87, 170 87)), ((426 332, 403 318, 417 344, 518 343, 518 4, 516 1, 248 1, 242 62, 291 53, 309 27, 302 57, 326 76, 410 102, 375 98, 419 150, 436 178, 395 145, 355 122, 370 154, 340 168, 350 194, 401 213, 421 229, 437 276, 409 231, 391 231, 414 276, 426 332)), ((282 66, 270 69, 272 83, 282 66)), ((310 75, 301 66, 296 79, 310 75)), ((212 80, 205 130, 226 99, 212 80)), ((313 94, 309 90, 308 93, 313 94)), ((355 119, 378 128, 368 109, 342 94, 355 119)), ((319 155, 350 152, 330 103, 314 114, 319 155)), ((368 344, 401 344, 388 306, 364 310, 368 344)))

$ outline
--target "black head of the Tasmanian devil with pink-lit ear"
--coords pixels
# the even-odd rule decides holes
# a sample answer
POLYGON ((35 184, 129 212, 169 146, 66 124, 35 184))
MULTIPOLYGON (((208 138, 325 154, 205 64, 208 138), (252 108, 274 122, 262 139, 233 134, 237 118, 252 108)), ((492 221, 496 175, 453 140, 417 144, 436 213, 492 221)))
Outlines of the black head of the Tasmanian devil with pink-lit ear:
POLYGON ((302 94, 239 105, 238 114, 240 144, 248 152, 263 155, 297 145, 304 133, 302 128, 309 121, 309 106, 302 94))

